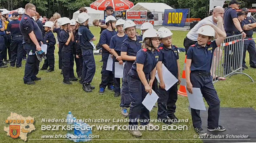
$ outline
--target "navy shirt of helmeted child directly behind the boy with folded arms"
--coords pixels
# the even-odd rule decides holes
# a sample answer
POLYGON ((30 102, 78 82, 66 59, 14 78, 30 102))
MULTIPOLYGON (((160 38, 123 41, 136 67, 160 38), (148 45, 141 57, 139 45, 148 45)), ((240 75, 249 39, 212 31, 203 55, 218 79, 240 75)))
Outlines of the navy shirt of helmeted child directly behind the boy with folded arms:
POLYGON ((109 47, 110 48, 114 48, 114 50, 116 52, 121 52, 121 46, 122 46, 122 43, 123 43, 123 40, 127 39, 127 35, 125 34, 123 37, 119 37, 117 35, 114 35, 112 38, 111 38, 111 41, 110 41, 110 45, 109 47))

